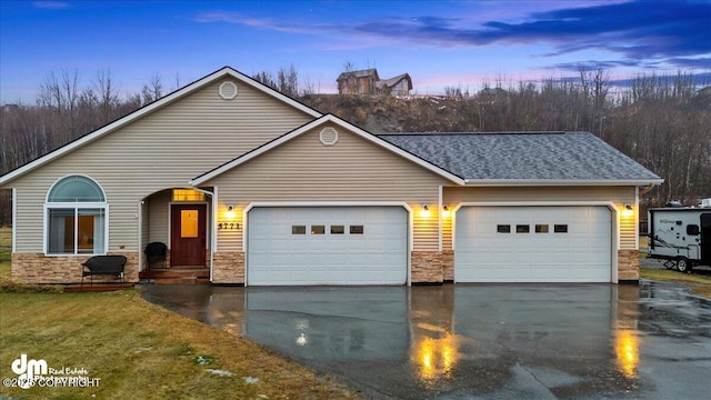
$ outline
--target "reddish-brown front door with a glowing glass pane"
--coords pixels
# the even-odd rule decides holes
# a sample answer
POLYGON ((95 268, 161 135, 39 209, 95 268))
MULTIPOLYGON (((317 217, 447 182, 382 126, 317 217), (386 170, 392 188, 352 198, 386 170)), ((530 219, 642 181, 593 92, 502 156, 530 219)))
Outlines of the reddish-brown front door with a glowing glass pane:
POLYGON ((207 212, 207 204, 171 206, 171 267, 206 266, 207 212))

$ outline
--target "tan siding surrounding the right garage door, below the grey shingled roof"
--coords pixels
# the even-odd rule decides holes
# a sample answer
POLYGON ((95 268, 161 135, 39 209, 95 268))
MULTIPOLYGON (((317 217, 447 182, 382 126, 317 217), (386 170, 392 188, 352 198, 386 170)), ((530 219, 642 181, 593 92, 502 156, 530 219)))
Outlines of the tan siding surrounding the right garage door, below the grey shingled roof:
MULTIPOLYGON (((453 208, 462 202, 545 202, 611 201, 619 211, 624 204, 635 204, 634 187, 510 187, 510 188, 443 188, 443 202, 453 208)), ((638 210, 635 210, 635 213, 638 210)), ((614 218, 614 214, 613 214, 614 218)), ((620 249, 637 249, 637 218, 620 218, 620 249)), ((443 249, 452 248, 451 229, 443 232, 443 249)))

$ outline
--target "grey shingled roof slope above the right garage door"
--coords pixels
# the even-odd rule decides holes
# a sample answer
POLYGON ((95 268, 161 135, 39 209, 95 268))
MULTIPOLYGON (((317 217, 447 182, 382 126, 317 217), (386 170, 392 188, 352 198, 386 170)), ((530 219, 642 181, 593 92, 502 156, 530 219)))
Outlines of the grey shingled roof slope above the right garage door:
POLYGON ((379 138, 472 183, 662 182, 589 132, 397 133, 379 138))

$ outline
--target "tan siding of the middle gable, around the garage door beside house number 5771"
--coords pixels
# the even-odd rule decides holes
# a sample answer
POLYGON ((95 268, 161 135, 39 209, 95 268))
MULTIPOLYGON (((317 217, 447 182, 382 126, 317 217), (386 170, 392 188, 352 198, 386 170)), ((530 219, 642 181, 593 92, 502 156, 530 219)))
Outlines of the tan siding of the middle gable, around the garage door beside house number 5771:
MULTIPOLYGON (((323 146, 319 141, 323 128, 206 182, 219 188, 220 210, 234 204, 241 212, 252 202, 403 201, 413 211, 413 250, 437 251, 439 187, 447 181, 337 127, 339 141, 323 146), (431 210, 427 220, 420 217, 422 204, 431 210)), ((219 250, 241 251, 242 234, 242 230, 220 232, 219 250)))

